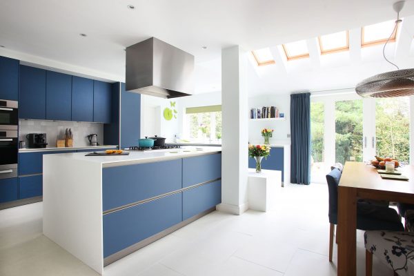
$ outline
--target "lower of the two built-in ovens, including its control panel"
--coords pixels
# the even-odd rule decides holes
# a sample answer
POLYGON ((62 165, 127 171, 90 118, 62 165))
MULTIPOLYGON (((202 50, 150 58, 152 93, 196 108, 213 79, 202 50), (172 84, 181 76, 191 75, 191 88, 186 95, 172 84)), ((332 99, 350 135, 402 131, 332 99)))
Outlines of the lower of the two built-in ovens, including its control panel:
POLYGON ((17 177, 17 130, 0 129, 0 179, 17 177))

